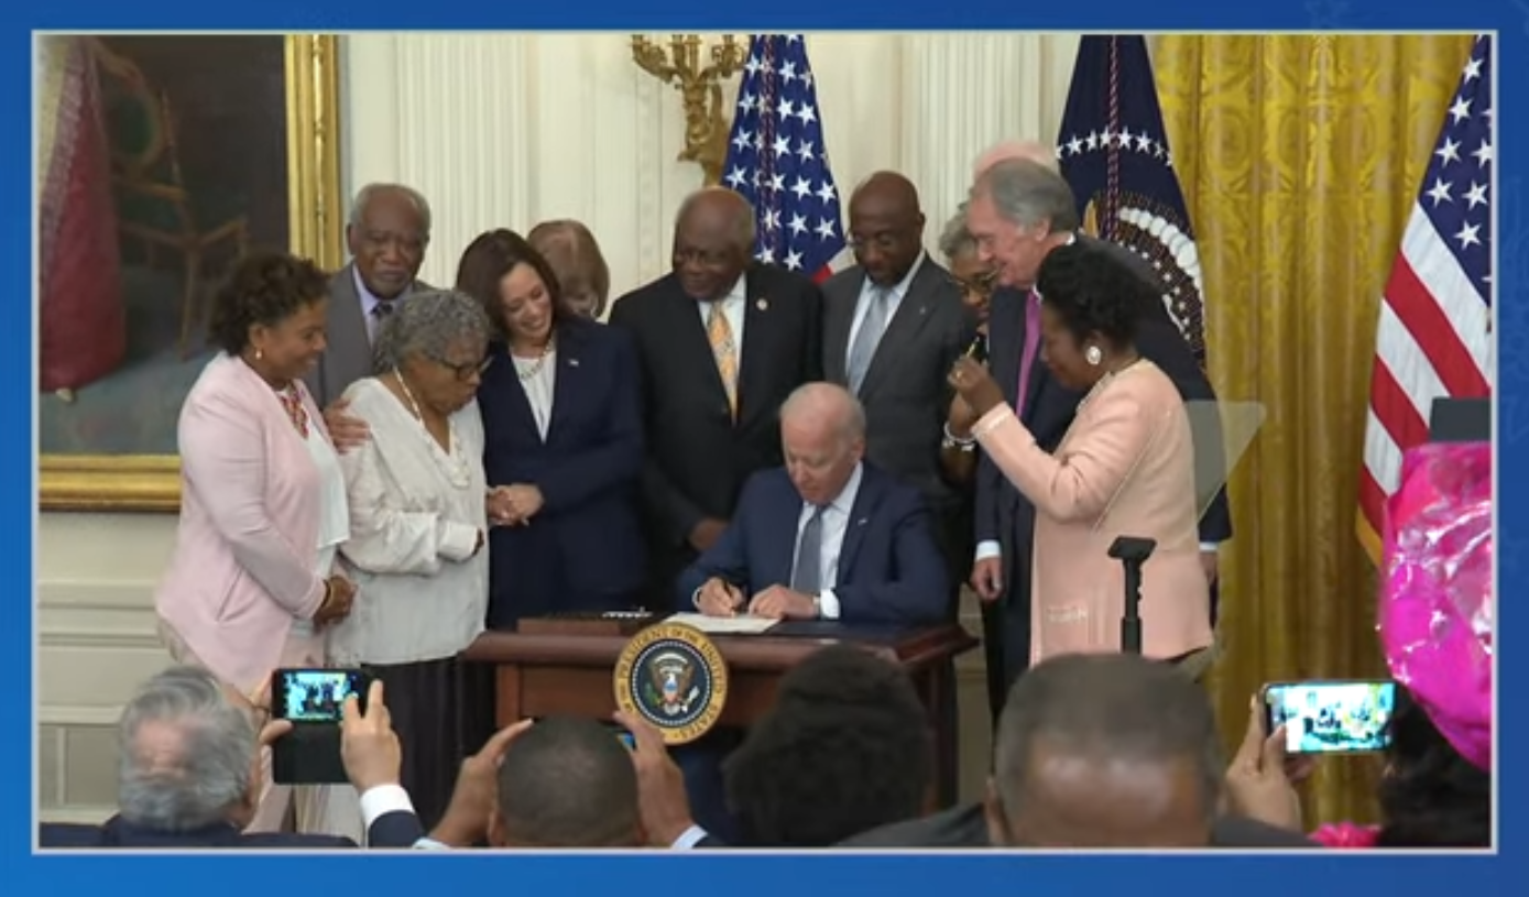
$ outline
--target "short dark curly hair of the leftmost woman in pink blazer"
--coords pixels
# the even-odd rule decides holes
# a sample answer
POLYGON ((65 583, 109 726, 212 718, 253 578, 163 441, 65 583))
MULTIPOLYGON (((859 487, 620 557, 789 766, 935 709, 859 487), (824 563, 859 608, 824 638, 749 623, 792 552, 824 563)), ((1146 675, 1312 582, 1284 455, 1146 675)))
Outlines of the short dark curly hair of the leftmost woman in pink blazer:
POLYGON ((234 264, 213 296, 208 338, 228 355, 249 345, 255 324, 275 327, 329 295, 329 275, 291 252, 257 251, 234 264))

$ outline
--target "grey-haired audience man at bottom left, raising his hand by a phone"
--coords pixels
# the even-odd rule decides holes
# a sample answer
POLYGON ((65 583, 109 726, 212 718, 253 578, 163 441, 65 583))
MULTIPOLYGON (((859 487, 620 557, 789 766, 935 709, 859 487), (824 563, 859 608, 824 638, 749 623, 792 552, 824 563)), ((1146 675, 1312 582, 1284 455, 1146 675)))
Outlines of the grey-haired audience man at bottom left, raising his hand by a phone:
MULTIPOLYGON (((424 830, 398 781, 398 737, 381 704, 367 708, 347 740, 347 772, 361 790, 367 840, 375 848, 410 848, 424 830), (391 750, 388 750, 391 738, 391 750), (347 746, 349 747, 349 746, 347 746), (391 761, 391 766, 390 766, 391 761)), ((177 666, 148 680, 128 701, 119 724, 121 811, 104 825, 43 824, 43 848, 355 848, 327 834, 245 834, 261 790, 260 749, 291 730, 277 720, 257 735, 254 708, 211 674, 177 666)), ((443 824, 445 827, 445 824, 443 824)), ((437 830, 439 833, 440 830, 437 830)), ((446 834, 439 833, 445 840, 446 834)))

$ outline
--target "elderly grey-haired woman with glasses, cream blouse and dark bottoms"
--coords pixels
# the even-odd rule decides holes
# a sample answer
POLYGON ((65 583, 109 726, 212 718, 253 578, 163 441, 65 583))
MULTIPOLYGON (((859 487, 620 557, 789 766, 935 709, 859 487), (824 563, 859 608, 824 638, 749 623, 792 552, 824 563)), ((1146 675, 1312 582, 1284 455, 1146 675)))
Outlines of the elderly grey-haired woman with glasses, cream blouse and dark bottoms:
POLYGON ((346 390, 372 437, 341 455, 358 585, 330 637, 341 666, 387 686, 404 744, 402 784, 428 827, 445 813, 465 746, 456 656, 488 608, 488 484, 476 394, 489 339, 482 306, 459 292, 414 293, 378 335, 376 376, 346 390))

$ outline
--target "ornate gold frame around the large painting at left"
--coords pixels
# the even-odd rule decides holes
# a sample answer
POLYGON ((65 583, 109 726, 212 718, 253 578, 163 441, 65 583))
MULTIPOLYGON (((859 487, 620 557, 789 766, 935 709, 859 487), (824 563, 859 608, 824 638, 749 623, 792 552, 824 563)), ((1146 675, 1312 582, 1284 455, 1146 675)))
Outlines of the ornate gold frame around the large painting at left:
MULTIPOLYGON (((291 248, 326 269, 344 263, 339 185, 339 38, 286 35, 291 248)), ((44 512, 177 512, 176 455, 43 455, 44 512)))

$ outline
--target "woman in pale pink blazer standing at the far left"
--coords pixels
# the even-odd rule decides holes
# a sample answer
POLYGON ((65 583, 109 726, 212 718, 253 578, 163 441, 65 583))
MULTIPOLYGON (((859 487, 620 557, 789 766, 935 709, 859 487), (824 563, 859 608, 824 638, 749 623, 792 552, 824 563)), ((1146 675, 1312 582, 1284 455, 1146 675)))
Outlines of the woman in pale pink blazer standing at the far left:
MULTIPOLYGON (((154 610, 176 662, 243 694, 277 668, 323 666, 326 627, 355 599, 335 575, 346 481, 303 385, 324 351, 326 292, 307 260, 240 261, 214 300, 222 351, 180 408, 180 523, 154 610)), ((287 801, 269 792, 251 828, 275 828, 287 801)))

